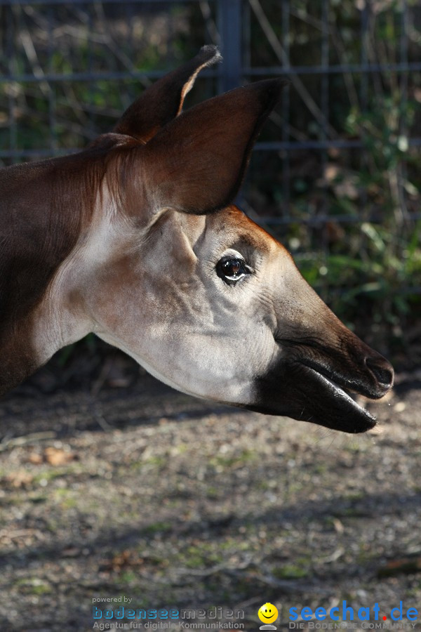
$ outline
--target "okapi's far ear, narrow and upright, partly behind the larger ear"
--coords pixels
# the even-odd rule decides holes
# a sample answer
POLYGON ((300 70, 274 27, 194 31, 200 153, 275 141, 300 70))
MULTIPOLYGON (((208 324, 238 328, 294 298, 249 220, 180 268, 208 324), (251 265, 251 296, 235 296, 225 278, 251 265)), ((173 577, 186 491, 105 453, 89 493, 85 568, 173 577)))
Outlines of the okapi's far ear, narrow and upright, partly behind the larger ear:
POLYGON ((221 59, 216 46, 203 46, 196 57, 147 88, 124 112, 113 131, 147 143, 161 127, 180 114, 185 96, 202 68, 221 59))

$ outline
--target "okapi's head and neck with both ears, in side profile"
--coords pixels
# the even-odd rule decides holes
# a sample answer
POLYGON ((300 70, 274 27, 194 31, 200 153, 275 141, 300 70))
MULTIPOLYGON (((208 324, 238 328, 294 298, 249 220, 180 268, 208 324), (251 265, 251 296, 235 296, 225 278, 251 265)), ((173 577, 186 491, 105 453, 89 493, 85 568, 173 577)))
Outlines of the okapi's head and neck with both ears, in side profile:
POLYGON ((86 151, 0 171, 0 392, 95 332, 171 386, 359 433, 393 369, 232 200, 283 81, 181 112, 213 46, 86 151))

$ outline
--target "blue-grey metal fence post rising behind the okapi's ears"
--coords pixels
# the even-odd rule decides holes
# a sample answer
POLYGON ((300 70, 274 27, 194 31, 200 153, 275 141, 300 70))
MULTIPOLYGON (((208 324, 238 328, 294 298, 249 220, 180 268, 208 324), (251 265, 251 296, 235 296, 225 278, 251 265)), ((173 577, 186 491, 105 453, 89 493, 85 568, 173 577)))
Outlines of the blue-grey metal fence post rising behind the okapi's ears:
POLYGON ((218 24, 224 64, 218 90, 226 92, 241 84, 242 0, 218 0, 218 24))

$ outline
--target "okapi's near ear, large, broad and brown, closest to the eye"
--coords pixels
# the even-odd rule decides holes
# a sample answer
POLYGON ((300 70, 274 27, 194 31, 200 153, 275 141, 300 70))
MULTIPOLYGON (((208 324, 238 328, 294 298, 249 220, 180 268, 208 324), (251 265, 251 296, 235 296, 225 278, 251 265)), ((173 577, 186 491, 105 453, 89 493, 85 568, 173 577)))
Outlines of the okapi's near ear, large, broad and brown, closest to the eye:
POLYGON ((204 101, 142 147, 152 208, 202 215, 232 202, 255 138, 286 83, 257 81, 204 101))

